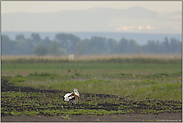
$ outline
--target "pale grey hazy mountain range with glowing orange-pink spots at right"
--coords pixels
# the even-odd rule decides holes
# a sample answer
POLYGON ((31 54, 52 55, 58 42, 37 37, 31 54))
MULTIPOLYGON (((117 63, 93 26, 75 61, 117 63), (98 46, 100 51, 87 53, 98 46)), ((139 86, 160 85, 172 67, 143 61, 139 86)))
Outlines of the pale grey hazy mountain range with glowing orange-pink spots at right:
POLYGON ((2 31, 160 34, 181 32, 181 11, 162 14, 142 7, 91 8, 50 13, 2 13, 1 17, 2 31), (143 28, 139 29, 139 26, 143 28), (147 28, 148 26, 154 28, 147 28))

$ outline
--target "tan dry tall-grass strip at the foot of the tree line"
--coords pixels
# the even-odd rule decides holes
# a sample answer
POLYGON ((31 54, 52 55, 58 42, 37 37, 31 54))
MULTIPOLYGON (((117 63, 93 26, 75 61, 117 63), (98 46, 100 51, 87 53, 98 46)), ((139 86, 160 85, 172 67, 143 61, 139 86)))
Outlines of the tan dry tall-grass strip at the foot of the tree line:
MULTIPOLYGON (((177 55, 176 55, 177 56, 177 55)), ((70 60, 68 56, 36 57, 36 56, 3 56, 2 63, 181 63, 180 54, 177 58, 172 55, 83 55, 70 60)))

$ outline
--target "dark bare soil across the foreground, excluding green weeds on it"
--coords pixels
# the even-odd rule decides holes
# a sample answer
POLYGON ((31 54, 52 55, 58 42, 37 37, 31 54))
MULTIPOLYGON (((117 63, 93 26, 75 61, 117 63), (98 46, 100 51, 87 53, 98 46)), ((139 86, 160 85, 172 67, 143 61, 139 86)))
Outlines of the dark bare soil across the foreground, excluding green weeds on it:
MULTIPOLYGON (((8 83, 7 80, 2 80, 1 82, 1 91, 2 92, 7 92, 7 91, 15 91, 18 92, 35 92, 35 93, 50 93, 50 94, 65 94, 67 92, 65 91, 61 91, 61 90, 39 90, 39 89, 35 89, 35 88, 31 88, 31 87, 18 87, 18 86, 14 86, 8 83)), ((89 97, 89 96, 95 96, 95 97, 101 97, 101 98, 117 98, 117 96, 115 95, 109 95, 109 94, 90 94, 90 93, 81 93, 81 95, 84 95, 84 97, 89 97)), ((124 98, 119 98, 119 100, 121 100, 123 103, 121 103, 122 105, 125 106, 132 106, 131 103, 134 103, 134 101, 129 102, 129 103, 125 103, 125 99, 124 98)), ((87 99, 87 101, 89 101, 89 99, 87 99)), ((154 101, 158 101, 158 100, 154 100, 154 101)), ((164 104, 164 102, 158 101, 160 104, 164 104)), ((177 104, 180 102, 176 102, 176 101, 172 101, 172 102, 167 102, 166 104, 177 104)), ((40 104, 41 105, 41 104, 40 104)), ((69 115, 69 118, 63 118, 63 115, 59 114, 58 116, 49 116, 49 115, 37 115, 37 116, 12 116, 12 115, 5 115, 3 113, 1 113, 1 121, 2 122, 9 122, 9 121, 15 121, 15 122, 32 122, 32 121, 47 121, 47 122, 57 122, 57 121, 168 121, 168 122, 181 122, 182 121, 182 112, 163 112, 163 113, 158 113, 158 114, 141 114, 138 111, 140 109, 144 109, 144 108, 149 108, 149 109, 156 109, 157 107, 148 107, 148 105, 146 105, 146 102, 140 102, 138 104, 136 104, 137 107, 131 107, 135 110, 135 112, 133 113, 126 113, 126 114, 110 114, 110 115, 102 115, 102 116, 92 116, 92 115, 69 115)), ((7 106, 7 104, 2 103, 1 102, 1 107, 5 107, 7 106)), ((10 106, 10 105, 9 105, 10 106)), ((72 105, 64 105, 62 104, 62 106, 66 107, 67 109, 72 109, 73 106, 72 105)), ((75 109, 90 109, 90 110, 98 110, 98 109, 104 109, 107 111, 110 110, 118 110, 118 106, 119 104, 111 104, 111 103, 103 103, 100 104, 98 103, 97 105, 87 105, 87 104, 78 104, 77 106, 74 106, 75 109)), ((21 110, 21 107, 13 107, 14 109, 17 108, 17 110, 21 110)), ((31 108, 31 110, 37 110, 38 108, 36 107, 28 107, 27 108, 31 108)), ((60 106, 55 106, 55 107, 50 107, 53 109, 59 109, 60 106)), ((39 110, 39 109, 38 109, 39 110)), ((181 109, 174 109, 174 110, 181 110, 181 109)))

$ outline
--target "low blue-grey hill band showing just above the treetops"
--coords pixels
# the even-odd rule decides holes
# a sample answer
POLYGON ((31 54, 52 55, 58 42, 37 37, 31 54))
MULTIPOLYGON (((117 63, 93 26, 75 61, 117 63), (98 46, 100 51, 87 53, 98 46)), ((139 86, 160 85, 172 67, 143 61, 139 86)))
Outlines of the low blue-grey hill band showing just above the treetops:
MULTIPOLYGON (((15 36, 18 34, 23 34, 26 38, 30 38, 31 34, 35 32, 2 32, 2 34, 8 35, 12 40, 15 39, 15 36)), ((66 33, 66 32, 38 32, 42 39, 49 37, 51 40, 54 39, 54 36, 57 33, 66 33)), ((138 44, 146 44, 148 40, 159 40, 164 41, 164 38, 175 38, 181 40, 181 34, 147 34, 147 33, 114 33, 114 32, 67 32, 78 36, 80 39, 90 39, 92 36, 100 36, 106 38, 112 38, 116 41, 119 41, 121 38, 133 39, 138 44)))

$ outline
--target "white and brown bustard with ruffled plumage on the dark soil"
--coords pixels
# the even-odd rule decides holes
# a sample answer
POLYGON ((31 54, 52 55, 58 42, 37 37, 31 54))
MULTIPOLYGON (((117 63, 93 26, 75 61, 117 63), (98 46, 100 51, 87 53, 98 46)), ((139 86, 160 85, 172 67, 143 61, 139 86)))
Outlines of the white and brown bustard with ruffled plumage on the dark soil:
POLYGON ((67 93, 64 96, 64 101, 71 102, 72 104, 77 104, 79 101, 78 89, 74 88, 74 92, 67 93))

